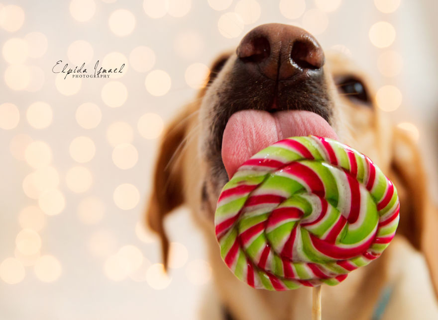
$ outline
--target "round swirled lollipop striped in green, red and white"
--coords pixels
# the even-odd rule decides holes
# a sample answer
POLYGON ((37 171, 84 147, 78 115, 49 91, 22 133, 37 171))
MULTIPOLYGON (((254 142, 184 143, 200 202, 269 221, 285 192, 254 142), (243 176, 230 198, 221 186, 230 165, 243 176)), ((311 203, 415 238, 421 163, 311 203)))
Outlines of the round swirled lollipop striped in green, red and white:
POLYGON ((399 221, 397 190, 366 156, 316 136, 243 163, 219 196, 220 254, 257 289, 336 285, 380 256, 399 221))

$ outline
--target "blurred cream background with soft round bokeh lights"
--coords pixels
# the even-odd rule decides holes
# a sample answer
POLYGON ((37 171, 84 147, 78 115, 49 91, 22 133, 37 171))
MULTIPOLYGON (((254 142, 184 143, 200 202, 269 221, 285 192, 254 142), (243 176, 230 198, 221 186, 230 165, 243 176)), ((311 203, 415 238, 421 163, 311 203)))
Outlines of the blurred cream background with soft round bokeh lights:
POLYGON ((258 24, 349 55, 437 167, 435 0, 0 1, 1 319, 199 319, 211 268, 189 213, 166 221, 168 275, 142 216, 163 127, 258 24), (59 60, 125 66, 64 79, 59 60))

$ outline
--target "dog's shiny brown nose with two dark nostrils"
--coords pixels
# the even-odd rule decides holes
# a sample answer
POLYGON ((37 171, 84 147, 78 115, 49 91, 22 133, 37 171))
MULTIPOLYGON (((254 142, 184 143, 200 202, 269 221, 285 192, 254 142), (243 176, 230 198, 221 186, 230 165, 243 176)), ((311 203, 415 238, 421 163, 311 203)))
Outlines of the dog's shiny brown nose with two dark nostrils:
POLYGON ((310 33, 279 23, 263 24, 249 31, 236 53, 246 68, 272 80, 317 75, 324 65, 323 49, 310 33))

